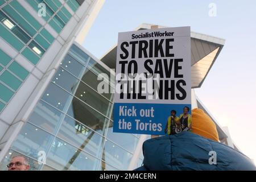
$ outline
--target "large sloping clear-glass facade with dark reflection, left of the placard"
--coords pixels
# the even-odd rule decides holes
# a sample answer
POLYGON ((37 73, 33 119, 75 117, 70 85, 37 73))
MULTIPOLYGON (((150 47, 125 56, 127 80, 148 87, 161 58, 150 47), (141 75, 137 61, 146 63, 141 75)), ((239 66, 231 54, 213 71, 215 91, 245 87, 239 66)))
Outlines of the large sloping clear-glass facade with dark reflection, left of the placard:
POLYGON ((139 135, 113 133, 113 94, 97 91, 100 83, 114 89, 111 74, 73 44, 0 169, 21 154, 29 158, 32 170, 126 170, 139 135), (45 164, 40 163, 42 155, 45 164))

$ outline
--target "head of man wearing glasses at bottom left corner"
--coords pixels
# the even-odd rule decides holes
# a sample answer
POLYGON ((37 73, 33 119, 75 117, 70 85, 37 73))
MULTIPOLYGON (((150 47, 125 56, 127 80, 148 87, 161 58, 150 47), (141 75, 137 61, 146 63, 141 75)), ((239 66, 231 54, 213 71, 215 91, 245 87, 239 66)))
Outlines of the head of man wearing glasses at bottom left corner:
POLYGON ((30 169, 27 158, 22 155, 14 156, 7 167, 8 171, 28 171, 30 169))

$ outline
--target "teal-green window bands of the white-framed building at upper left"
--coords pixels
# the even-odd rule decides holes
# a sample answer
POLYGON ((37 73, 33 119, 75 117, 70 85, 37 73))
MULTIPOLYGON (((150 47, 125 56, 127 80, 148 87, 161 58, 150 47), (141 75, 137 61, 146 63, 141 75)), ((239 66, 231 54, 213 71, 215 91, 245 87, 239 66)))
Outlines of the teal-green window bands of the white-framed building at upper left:
MULTIPOLYGON (((35 11, 39 10, 40 3, 46 6, 46 16, 42 16, 58 34, 69 22, 72 15, 65 6, 74 12, 81 5, 81 1, 65 0, 26 0, 35 11), (65 5, 65 6, 64 6, 65 5)), ((51 29, 49 28, 49 29, 51 29)), ((19 1, 0 0, 0 36, 16 51, 24 56, 31 64, 36 65, 55 38, 43 24, 32 16, 19 1)), ((11 97, 28 76, 26 68, 0 49, 0 112, 8 104, 11 97)))

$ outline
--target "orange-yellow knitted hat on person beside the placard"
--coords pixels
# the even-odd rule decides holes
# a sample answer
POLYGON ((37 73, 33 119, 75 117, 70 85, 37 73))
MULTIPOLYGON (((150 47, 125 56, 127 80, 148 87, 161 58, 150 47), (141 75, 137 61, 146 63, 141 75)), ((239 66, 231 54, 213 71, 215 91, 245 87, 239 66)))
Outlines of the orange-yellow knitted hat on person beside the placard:
POLYGON ((218 132, 215 123, 201 109, 192 109, 192 133, 218 142, 218 132))

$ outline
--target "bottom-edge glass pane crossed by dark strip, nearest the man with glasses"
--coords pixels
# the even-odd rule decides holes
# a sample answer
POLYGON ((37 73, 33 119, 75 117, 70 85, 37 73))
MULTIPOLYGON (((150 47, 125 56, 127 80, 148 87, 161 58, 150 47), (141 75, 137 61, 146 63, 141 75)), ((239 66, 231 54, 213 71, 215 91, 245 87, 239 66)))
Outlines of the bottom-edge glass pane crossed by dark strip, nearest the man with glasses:
POLYGON ((96 170, 98 159, 56 138, 49 151, 46 163, 61 171, 84 171, 96 170))

